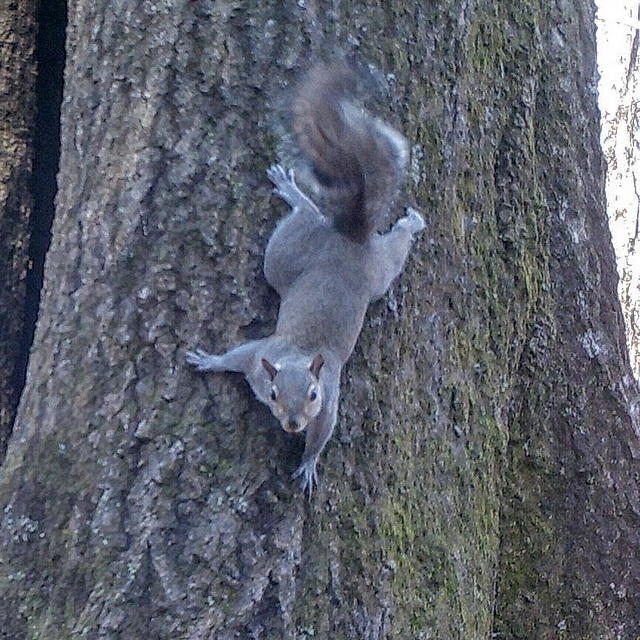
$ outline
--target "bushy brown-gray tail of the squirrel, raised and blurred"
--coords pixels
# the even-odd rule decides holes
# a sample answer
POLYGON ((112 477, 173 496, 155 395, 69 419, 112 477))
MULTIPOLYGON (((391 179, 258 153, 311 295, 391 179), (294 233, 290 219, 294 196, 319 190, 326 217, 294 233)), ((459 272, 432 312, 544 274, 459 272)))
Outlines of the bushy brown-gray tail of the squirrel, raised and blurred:
POLYGON ((365 242, 383 221, 404 176, 404 137, 354 99, 358 73, 346 62, 320 63, 293 96, 292 128, 311 163, 321 209, 336 229, 365 242))

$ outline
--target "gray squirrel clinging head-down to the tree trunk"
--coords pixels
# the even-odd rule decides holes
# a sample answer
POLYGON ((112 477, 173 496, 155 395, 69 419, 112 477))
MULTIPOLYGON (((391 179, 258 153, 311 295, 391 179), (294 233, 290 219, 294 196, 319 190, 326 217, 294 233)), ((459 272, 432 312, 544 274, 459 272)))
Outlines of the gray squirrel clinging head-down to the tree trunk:
POLYGON ((223 355, 186 354, 198 371, 243 373, 286 432, 306 429, 293 477, 309 497, 336 423, 340 373, 367 307, 402 271, 413 235, 424 228, 407 208, 388 233, 377 231, 404 178, 407 142, 356 104, 357 81, 346 62, 319 63, 293 95, 291 128, 318 204, 293 171, 267 171, 291 206, 264 257, 266 279, 280 296, 275 332, 223 355))

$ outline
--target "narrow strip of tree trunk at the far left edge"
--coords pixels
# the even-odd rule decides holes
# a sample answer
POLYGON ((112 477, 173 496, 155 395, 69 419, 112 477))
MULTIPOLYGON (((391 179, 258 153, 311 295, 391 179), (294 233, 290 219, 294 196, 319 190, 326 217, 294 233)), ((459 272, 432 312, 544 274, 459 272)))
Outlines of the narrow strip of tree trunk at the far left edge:
POLYGON ((0 7, 0 461, 23 371, 35 119, 35 2, 0 7))

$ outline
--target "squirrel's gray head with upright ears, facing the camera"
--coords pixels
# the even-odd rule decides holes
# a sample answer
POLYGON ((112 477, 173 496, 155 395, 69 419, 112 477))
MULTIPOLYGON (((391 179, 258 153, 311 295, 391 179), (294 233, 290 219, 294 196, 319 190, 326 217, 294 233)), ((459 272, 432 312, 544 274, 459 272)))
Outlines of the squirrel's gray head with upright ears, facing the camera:
POLYGON ((271 380, 269 407, 285 431, 303 431, 320 413, 320 370, 323 364, 324 358, 320 354, 311 362, 297 359, 271 364, 268 360, 262 359, 262 366, 271 380))

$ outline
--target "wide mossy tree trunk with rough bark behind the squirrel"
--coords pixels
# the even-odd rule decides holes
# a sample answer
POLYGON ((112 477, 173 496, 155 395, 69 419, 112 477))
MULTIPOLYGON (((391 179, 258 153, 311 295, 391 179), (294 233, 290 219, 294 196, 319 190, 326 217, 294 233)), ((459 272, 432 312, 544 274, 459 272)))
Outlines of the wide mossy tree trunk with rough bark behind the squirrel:
POLYGON ((604 210, 593 6, 73 3, 45 291, 0 481, 9 638, 623 638, 637 389, 604 210), (268 332, 287 83, 390 72, 428 221, 301 444, 187 347, 268 332))

